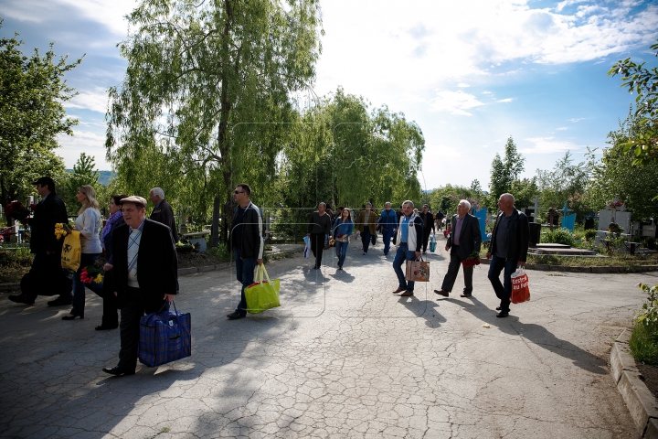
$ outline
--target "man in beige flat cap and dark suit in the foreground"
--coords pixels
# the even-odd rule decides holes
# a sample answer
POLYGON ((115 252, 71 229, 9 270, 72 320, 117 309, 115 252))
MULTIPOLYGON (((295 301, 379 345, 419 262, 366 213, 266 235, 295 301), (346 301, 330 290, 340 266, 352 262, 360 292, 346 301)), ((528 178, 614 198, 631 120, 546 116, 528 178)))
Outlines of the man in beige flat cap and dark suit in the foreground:
POLYGON ((111 375, 134 375, 140 318, 160 311, 176 294, 178 260, 171 230, 145 218, 146 200, 121 200, 125 224, 112 236, 114 289, 121 309, 119 364, 103 369, 111 375))

